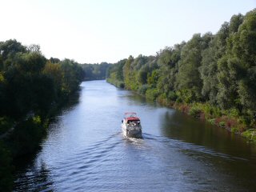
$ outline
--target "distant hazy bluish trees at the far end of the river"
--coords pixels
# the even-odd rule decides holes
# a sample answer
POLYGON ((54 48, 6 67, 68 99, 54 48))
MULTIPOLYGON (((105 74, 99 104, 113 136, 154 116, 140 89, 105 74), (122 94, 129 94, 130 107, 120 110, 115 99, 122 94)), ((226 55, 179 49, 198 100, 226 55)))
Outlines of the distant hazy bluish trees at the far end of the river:
POLYGON ((110 67, 110 63, 102 62, 100 64, 81 64, 82 70, 85 72, 85 81, 106 79, 106 70, 110 67))

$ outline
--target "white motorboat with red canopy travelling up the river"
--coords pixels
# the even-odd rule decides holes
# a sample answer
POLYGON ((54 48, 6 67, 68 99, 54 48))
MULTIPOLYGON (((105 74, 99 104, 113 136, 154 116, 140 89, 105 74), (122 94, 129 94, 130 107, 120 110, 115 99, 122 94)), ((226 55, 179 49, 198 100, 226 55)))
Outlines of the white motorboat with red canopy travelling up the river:
POLYGON ((127 138, 142 138, 141 120, 134 112, 126 112, 122 119, 122 133, 127 138))

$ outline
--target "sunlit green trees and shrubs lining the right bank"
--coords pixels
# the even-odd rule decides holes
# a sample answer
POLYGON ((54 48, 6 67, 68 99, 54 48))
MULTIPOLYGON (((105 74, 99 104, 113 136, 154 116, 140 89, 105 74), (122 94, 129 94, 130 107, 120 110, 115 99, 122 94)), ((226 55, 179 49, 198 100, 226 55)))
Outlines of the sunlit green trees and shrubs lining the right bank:
POLYGON ((217 34, 115 63, 107 81, 256 139, 256 10, 217 34))

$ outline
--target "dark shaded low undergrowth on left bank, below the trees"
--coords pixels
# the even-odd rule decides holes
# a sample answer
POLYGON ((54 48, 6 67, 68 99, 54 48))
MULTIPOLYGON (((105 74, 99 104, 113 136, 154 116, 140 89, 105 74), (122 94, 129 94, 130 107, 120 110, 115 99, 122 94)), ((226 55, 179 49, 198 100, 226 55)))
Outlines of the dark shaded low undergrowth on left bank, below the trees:
POLYGON ((26 119, 14 122, 11 118, 1 118, 0 135, 0 191, 11 191, 14 186, 14 174, 18 159, 35 154, 41 149, 47 129, 56 114, 64 107, 78 101, 78 90, 59 100, 50 108, 45 117, 30 115, 26 119), (4 132, 5 130, 5 132, 4 132))

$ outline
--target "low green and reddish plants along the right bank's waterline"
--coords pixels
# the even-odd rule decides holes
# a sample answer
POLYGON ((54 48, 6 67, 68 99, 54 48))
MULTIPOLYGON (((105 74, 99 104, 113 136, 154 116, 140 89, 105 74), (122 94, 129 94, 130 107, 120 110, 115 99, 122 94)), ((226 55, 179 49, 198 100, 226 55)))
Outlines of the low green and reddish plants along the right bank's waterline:
MULTIPOLYGON (((108 78, 106 80, 110 84, 117 86, 118 88, 124 88, 124 82, 118 82, 108 78)), ((209 103, 184 103, 184 102, 174 102, 167 98, 160 96, 152 96, 151 94, 142 94, 139 91, 135 91, 137 94, 146 97, 150 101, 155 100, 162 106, 167 106, 174 108, 175 110, 182 111, 184 114, 189 114, 194 118, 200 118, 206 122, 210 122, 214 126, 224 128, 230 131, 232 134, 238 134, 246 138, 248 142, 253 142, 256 144, 256 127, 251 125, 246 126, 246 118, 239 116, 238 110, 221 110, 216 106, 212 106, 209 103), (152 96, 152 97, 151 97, 152 96)))

